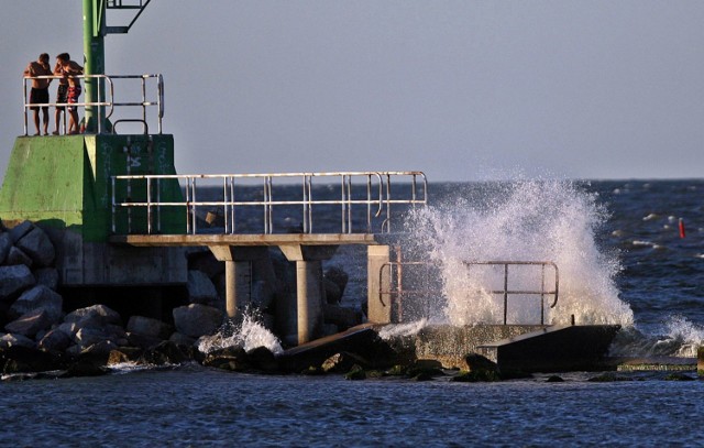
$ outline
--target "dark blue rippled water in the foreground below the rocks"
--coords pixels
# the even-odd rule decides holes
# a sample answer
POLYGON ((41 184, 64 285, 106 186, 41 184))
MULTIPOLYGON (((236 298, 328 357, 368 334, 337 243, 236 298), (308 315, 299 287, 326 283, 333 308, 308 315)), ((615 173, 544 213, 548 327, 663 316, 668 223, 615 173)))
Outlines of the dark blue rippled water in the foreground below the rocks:
POLYGON ((162 371, 2 384, 2 446, 701 446, 702 381, 162 371))

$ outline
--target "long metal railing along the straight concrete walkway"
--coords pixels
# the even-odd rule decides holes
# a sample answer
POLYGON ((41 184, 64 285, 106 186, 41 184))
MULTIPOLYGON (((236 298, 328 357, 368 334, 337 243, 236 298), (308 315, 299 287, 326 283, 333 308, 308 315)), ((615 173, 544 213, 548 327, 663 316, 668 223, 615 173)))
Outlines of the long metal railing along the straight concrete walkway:
MULTIPOLYGON (((134 231, 130 210, 146 209, 146 232, 161 233, 162 211, 167 207, 183 207, 186 212, 186 232, 198 232, 199 215, 210 212, 213 207, 222 211, 222 232, 238 233, 238 217, 246 208, 261 208, 263 212, 262 233, 271 234, 274 229, 274 209, 284 206, 301 208, 301 233, 312 233, 314 207, 339 206, 340 233, 353 233, 353 212, 362 209, 365 215, 365 228, 358 233, 375 233, 373 218, 381 219, 378 233, 391 232, 392 206, 417 206, 427 204, 428 182, 422 172, 336 172, 336 173, 276 173, 276 174, 196 174, 196 175, 119 175, 112 176, 112 231, 117 231, 118 212, 128 210, 128 233, 134 231), (298 178, 301 196, 297 200, 278 199, 274 197, 274 179, 290 181, 298 178), (340 185, 339 199, 314 197, 314 179, 337 178, 340 185), (353 184, 353 179, 363 179, 363 184, 353 184), (392 196, 392 179, 400 181, 406 189, 400 195, 392 196), (163 201, 161 199, 161 184, 164 182, 179 182, 185 190, 184 200, 163 201), (217 199, 201 199, 199 185, 209 181, 216 183, 220 197, 217 199), (405 182, 404 182, 405 181, 405 182), (256 197, 246 197, 242 192, 252 188, 252 182, 261 183, 256 197), (407 183, 407 185, 405 185, 407 183), (140 184, 140 185, 138 185, 140 184), (185 185, 184 185, 185 184, 185 185), (138 190, 140 189, 141 190, 138 190), (363 197, 359 197, 359 188, 364 189, 363 197), (356 188, 356 189, 355 189, 356 188), (358 195, 353 194, 353 190, 358 195), (120 194, 118 193, 120 192, 120 194), (123 192, 123 193, 122 193, 123 192), (120 197, 123 195, 122 197, 120 197), (132 197, 139 197, 134 200, 132 197)), ((295 184, 294 184, 295 185, 295 184)), ((327 184, 329 185, 329 184, 327 184)), ((398 186, 398 183, 395 183, 398 186)), ((290 186, 290 185, 288 185, 290 186)), ((206 188, 213 188, 211 185, 206 188)), ((394 190, 394 195, 398 192, 394 190)))

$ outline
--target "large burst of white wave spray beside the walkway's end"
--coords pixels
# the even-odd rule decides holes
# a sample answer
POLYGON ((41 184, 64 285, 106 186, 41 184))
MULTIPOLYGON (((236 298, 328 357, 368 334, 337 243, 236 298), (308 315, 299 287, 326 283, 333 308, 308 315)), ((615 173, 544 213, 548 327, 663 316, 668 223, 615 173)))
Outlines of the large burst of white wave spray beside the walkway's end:
MULTIPOLYGON (((436 307, 443 308, 447 321, 503 321, 503 297, 492 293, 503 287, 503 273, 490 266, 468 270, 464 263, 501 260, 550 261, 559 266, 559 299, 554 308, 548 307, 551 296, 546 301, 547 324, 568 324, 574 315, 579 324, 632 325, 632 310, 619 299, 615 284, 620 270, 617 254, 603 252, 595 241, 607 212, 594 195, 564 181, 521 181, 488 188, 492 192, 481 200, 454 198, 416 210, 407 222, 410 256, 440 266, 444 302, 438 301, 436 307)), ((539 287, 536 269, 517 270, 509 288, 539 287)), ((509 321, 540 319, 539 298, 509 301, 509 321)))

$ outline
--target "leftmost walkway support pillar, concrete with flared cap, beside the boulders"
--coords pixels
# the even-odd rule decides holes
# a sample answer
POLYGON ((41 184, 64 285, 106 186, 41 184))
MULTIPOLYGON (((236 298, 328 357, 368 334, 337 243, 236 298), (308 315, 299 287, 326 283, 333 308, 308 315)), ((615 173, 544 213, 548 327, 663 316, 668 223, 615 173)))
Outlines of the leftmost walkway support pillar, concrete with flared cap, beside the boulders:
POLYGON ((264 245, 210 245, 212 254, 224 261, 226 305, 228 317, 237 318, 250 303, 252 261, 268 256, 264 245))

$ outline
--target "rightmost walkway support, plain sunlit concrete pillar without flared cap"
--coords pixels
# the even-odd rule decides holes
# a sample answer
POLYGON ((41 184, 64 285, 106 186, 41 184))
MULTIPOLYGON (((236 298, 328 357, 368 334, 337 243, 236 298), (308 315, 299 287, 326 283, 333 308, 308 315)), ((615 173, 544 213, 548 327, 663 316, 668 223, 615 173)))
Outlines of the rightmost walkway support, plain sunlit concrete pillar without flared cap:
POLYGON ((374 324, 392 323, 392 296, 381 294, 391 288, 391 269, 384 267, 384 275, 380 280, 380 272, 389 262, 391 248, 388 245, 370 245, 366 252, 366 305, 367 319, 374 324))

